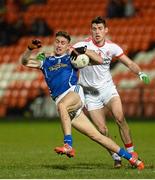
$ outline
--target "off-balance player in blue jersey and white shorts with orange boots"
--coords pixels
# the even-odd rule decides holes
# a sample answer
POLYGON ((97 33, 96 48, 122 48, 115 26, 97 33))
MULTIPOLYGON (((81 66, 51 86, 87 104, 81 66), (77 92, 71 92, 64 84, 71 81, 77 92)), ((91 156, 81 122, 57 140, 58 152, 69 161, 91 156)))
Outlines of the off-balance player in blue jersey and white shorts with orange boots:
MULTIPOLYGON (((70 48, 70 36, 68 33, 64 31, 56 33, 54 55, 45 57, 44 61, 31 58, 33 49, 40 47, 41 42, 39 40, 33 40, 22 56, 22 64, 27 67, 40 68, 42 70, 51 96, 56 102, 64 133, 64 146, 56 147, 55 151, 58 154, 65 154, 68 157, 75 156, 75 150, 72 148, 71 135, 71 126, 73 126, 92 140, 118 153, 139 168, 139 164, 142 163, 141 161, 133 158, 131 154, 123 148, 120 148, 110 138, 100 134, 82 112, 84 94, 82 87, 77 85, 77 69, 71 65, 71 56, 67 54, 70 48), (73 115, 72 121, 69 113, 73 115)), ((100 57, 95 52, 86 50, 85 53, 94 61, 100 61, 100 57)), ((72 55, 75 57, 76 53, 72 53, 72 55)))

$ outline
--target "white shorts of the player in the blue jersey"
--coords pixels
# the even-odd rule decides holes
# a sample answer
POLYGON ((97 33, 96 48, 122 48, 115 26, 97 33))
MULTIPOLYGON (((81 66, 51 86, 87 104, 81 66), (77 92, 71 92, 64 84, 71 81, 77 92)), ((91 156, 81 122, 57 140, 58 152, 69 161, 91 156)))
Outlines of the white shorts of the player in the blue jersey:
POLYGON ((60 96, 58 96, 57 98, 56 98, 56 100, 55 100, 55 103, 56 103, 56 105, 60 102, 60 100, 67 94, 67 93, 69 93, 70 91, 74 91, 74 92, 76 92, 79 96, 80 96, 80 99, 81 99, 81 101, 82 101, 82 106, 79 108, 79 109, 77 109, 75 112, 71 112, 71 114, 73 113, 75 113, 75 116, 77 117, 80 113, 81 113, 81 111, 82 111, 82 109, 83 109, 83 107, 84 107, 84 104, 85 104, 85 97, 84 97, 84 92, 83 92, 83 88, 80 86, 80 85, 74 85, 74 86, 72 86, 71 88, 69 88, 67 91, 65 91, 63 94, 61 94, 60 96))

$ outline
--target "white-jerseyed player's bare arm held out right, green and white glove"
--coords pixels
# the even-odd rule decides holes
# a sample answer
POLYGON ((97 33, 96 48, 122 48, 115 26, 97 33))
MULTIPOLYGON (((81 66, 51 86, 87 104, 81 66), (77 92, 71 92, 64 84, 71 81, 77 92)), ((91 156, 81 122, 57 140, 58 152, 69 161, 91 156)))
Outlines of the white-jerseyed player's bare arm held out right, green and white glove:
POLYGON ((149 76, 146 73, 142 72, 142 70, 138 66, 138 64, 133 62, 129 57, 127 57, 126 55, 122 55, 120 57, 120 61, 124 65, 126 65, 133 73, 137 74, 139 76, 140 80, 143 81, 145 84, 149 84, 150 83, 149 76))

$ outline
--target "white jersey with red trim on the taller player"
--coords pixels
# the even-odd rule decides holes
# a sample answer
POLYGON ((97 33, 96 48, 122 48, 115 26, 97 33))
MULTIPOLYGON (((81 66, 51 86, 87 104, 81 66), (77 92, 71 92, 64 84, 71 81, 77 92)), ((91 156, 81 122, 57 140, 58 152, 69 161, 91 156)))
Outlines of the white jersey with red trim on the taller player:
POLYGON ((87 46, 87 49, 94 50, 102 59, 103 64, 92 65, 80 69, 79 83, 84 86, 93 86, 97 89, 103 89, 106 84, 112 83, 110 74, 110 63, 113 57, 120 57, 123 50, 115 43, 106 40, 103 46, 97 46, 92 38, 74 44, 74 48, 87 46))

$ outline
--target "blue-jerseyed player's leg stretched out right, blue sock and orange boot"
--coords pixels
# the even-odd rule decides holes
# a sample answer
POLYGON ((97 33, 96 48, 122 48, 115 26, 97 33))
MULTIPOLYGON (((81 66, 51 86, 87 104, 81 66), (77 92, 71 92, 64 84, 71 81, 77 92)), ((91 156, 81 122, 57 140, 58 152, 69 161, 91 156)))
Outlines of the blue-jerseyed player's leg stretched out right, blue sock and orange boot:
POLYGON ((72 126, 80 131, 81 133, 87 135, 89 138, 99 143, 105 148, 117 153, 119 156, 127 159, 130 164, 136 166, 139 170, 144 169, 144 163, 137 158, 133 157, 123 148, 120 148, 113 140, 103 136, 89 121, 89 119, 82 112, 78 117, 72 120, 72 126))

